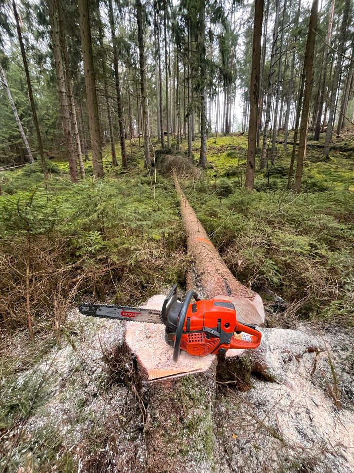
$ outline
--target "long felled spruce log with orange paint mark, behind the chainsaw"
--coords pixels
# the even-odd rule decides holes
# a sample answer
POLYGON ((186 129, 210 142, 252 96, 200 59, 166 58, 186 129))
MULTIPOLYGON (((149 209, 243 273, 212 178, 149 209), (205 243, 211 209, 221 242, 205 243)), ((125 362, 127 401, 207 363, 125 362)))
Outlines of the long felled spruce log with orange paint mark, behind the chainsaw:
POLYGON ((238 282, 231 274, 187 201, 176 174, 174 181, 187 235, 187 250, 193 258, 187 286, 197 290, 207 299, 229 297, 235 305, 236 316, 240 322, 262 324, 265 314, 261 297, 238 282))

